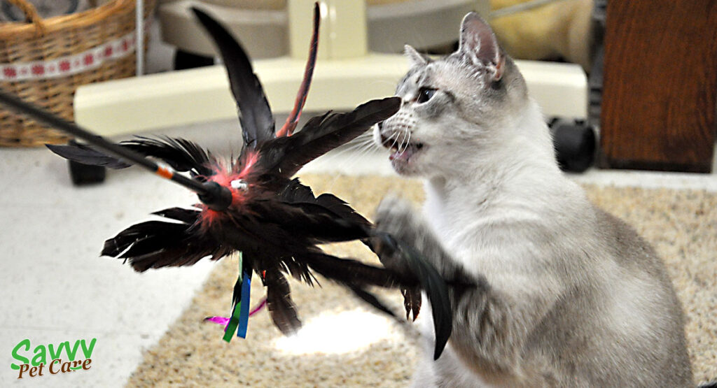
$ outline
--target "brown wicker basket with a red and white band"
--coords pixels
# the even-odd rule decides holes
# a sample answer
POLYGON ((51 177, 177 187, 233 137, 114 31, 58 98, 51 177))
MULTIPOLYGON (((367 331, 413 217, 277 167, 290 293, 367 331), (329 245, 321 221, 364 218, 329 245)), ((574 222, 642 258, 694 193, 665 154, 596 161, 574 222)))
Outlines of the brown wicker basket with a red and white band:
MULTIPOLYGON (((7 92, 72 120, 78 86, 135 74, 135 1, 100 1, 87 11, 48 19, 41 19, 27 0, 10 2, 32 24, 0 23, 0 87, 7 92)), ((145 0, 145 19, 155 3, 145 0)), ((0 146, 66 140, 62 133, 0 107, 0 146)))

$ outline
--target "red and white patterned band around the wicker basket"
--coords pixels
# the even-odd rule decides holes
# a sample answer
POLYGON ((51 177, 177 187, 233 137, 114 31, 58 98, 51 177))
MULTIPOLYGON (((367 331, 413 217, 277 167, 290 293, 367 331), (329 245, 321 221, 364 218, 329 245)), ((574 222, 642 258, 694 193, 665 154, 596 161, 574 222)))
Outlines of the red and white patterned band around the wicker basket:
POLYGON ((80 54, 50 61, 0 64, 0 81, 24 81, 65 77, 99 67, 103 62, 125 57, 135 51, 135 33, 94 47, 80 54))

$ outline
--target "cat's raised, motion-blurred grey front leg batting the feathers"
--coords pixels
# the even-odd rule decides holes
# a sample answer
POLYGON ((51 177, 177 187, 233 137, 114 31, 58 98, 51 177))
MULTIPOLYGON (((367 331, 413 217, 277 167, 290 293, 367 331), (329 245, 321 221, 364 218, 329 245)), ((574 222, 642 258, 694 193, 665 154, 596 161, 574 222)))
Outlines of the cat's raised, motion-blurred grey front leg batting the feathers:
MULTIPOLYGON (((381 202, 376 210, 376 231, 389 233, 397 241, 412 247, 449 284, 453 314, 450 345, 463 364, 469 365, 473 372, 480 371, 479 374, 503 371, 508 376, 520 369, 521 349, 528 331, 541 321, 554 301, 554 294, 536 292, 535 284, 549 280, 549 276, 540 271, 526 273, 526 276, 516 274, 511 277, 513 294, 495 289, 484 276, 468 275, 422 215, 398 198, 381 202)), ((408 271, 406 258, 399 252, 379 247, 376 253, 386 268, 408 271)), ((455 365, 439 360, 435 367, 452 370, 455 365)), ((508 378, 506 376, 500 378, 508 378)))

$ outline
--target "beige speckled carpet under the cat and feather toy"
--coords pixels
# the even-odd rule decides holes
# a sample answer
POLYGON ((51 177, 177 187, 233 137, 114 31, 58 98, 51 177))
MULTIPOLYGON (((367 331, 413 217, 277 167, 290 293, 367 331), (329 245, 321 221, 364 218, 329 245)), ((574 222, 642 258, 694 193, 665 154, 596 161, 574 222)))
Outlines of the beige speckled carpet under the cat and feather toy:
MULTIPOLYGON (((364 215, 385 193, 402 192, 417 202, 422 186, 389 178, 303 177, 315 193, 331 192, 364 215)), ((586 187, 599 206, 627 220, 665 259, 688 314, 687 334, 695 382, 717 378, 717 194, 688 190, 586 187)), ((338 256, 375 259, 358 243, 327 248, 338 256)), ((247 339, 222 341, 222 326, 202 322, 225 315, 237 276, 235 258, 217 263, 191 306, 156 346, 146 351, 129 386, 223 385, 252 387, 403 387, 417 357, 411 329, 372 314, 328 281, 322 288, 293 282, 292 294, 305 326, 283 337, 262 311, 252 316, 247 339)), ((401 297, 379 292, 401 311, 401 297)), ((263 296, 252 284, 252 303, 263 296)))

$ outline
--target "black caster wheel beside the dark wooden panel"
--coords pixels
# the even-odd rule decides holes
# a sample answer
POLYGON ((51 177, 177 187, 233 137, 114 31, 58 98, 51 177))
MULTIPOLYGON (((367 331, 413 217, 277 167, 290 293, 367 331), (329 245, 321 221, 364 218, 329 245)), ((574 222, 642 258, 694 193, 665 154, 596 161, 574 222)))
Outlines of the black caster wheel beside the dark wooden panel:
POLYGON ((571 173, 582 173, 595 160, 595 131, 582 120, 553 120, 550 128, 553 134, 555 154, 560 169, 571 173))

